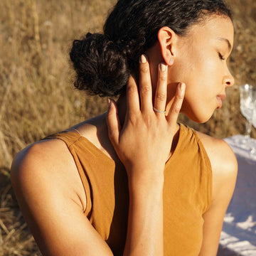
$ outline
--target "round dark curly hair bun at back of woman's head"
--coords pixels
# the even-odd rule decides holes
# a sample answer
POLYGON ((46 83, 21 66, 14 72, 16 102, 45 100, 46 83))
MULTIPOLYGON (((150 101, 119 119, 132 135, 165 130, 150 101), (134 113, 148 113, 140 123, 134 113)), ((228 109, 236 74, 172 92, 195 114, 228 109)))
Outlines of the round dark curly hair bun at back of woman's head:
POLYGON ((127 58, 118 46, 99 33, 73 41, 70 59, 77 73, 75 87, 95 95, 119 95, 129 78, 127 58))

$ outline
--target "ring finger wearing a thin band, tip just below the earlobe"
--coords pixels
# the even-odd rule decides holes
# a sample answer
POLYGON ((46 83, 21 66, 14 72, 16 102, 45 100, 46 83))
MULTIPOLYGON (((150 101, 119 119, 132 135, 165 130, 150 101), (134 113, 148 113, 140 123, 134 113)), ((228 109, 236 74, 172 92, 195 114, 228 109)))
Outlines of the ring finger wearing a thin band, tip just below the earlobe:
MULTIPOLYGON (((154 100, 154 107, 156 110, 165 111, 167 97, 167 65, 164 63, 159 64, 158 80, 156 86, 156 95, 154 100)), ((156 112, 164 116, 163 113, 156 112)))

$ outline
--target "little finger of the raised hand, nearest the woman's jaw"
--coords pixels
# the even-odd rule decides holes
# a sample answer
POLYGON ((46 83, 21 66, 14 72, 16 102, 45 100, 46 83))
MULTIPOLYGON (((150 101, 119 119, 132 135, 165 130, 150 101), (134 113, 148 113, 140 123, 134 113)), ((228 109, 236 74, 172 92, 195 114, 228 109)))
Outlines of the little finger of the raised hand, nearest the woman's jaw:
POLYGON ((168 116, 167 116, 168 122, 170 124, 176 124, 176 122, 177 122, 178 114, 181 110, 181 105, 183 103, 185 90, 186 90, 185 83, 180 82, 176 89, 176 95, 174 97, 174 102, 172 103, 171 108, 168 113, 168 116))

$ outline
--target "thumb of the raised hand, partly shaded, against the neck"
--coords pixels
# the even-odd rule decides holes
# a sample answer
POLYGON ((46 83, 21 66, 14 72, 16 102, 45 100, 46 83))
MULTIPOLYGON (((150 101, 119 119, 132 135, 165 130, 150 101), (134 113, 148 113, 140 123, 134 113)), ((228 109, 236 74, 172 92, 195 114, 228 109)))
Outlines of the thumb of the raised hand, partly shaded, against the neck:
POLYGON ((109 99, 109 108, 107 110, 107 129, 110 137, 110 141, 115 147, 119 142, 119 133, 120 133, 120 125, 119 118, 117 114, 117 105, 114 100, 109 99))

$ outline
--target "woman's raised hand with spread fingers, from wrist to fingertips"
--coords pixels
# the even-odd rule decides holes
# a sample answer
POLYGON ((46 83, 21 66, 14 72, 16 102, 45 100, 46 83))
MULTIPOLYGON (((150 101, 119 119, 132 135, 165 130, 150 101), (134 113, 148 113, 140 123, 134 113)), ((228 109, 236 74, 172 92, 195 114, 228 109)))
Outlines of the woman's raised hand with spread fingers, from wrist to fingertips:
MULTIPOLYGON (((117 105, 113 100, 107 112, 110 140, 128 176, 134 170, 142 176, 159 174, 169 158, 171 144, 176 133, 176 122, 185 94, 185 84, 179 83, 174 102, 168 114, 154 111, 152 104, 149 63, 142 55, 139 64, 139 92, 136 81, 129 78, 127 85, 127 113, 121 128, 117 105)), ((167 65, 159 64, 154 107, 165 110, 167 95, 167 65)))

